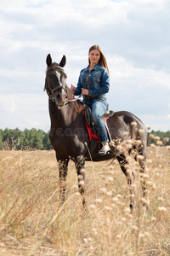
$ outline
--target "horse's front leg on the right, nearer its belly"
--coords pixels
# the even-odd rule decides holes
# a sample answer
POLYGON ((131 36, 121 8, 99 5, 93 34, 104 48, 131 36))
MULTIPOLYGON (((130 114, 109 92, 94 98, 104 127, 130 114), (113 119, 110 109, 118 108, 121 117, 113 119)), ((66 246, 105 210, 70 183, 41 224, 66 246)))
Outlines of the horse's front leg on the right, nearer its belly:
POLYGON ((85 207, 85 185, 86 185, 86 175, 85 175, 85 160, 83 157, 77 158, 77 177, 78 177, 78 189, 82 195, 82 205, 85 207))

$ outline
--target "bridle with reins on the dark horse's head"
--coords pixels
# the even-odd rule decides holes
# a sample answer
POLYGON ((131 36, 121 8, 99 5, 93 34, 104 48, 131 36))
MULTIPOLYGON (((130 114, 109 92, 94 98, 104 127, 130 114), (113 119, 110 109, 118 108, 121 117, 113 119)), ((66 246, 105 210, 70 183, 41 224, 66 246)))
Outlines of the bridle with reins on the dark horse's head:
MULTIPOLYGON (((56 90, 59 90, 59 89, 62 89, 62 90, 64 90, 64 92, 65 92, 65 103, 64 103, 64 105, 65 105, 65 104, 68 104, 68 103, 70 103, 70 102, 75 102, 75 101, 77 101, 79 98, 82 97, 82 95, 81 95, 81 96, 78 96, 77 98, 72 99, 72 100, 67 99, 67 85, 65 84, 65 88, 64 88, 64 86, 61 85, 61 84, 62 84, 61 81, 59 81, 59 84, 60 84, 60 85, 58 85, 58 86, 54 87, 54 89, 52 89, 51 86, 48 84, 48 70, 50 70, 50 69, 58 70, 59 73, 62 73, 62 74, 64 75, 65 79, 67 78, 67 75, 65 74, 63 68, 59 67, 58 65, 55 65, 54 67, 53 67, 53 66, 52 66, 52 67, 48 67, 48 69, 47 69, 47 71, 46 71, 45 86, 44 86, 43 91, 46 90, 46 92, 47 92, 47 94, 48 94, 48 98, 49 98, 52 102, 55 102, 54 92, 55 92, 56 90)), ((63 106, 64 106, 64 105, 63 105, 63 106)))

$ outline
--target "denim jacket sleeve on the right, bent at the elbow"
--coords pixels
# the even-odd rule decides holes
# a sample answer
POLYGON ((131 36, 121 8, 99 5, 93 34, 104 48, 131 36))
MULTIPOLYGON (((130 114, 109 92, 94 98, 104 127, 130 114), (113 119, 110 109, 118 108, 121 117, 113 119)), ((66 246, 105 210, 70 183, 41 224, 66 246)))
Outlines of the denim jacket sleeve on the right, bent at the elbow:
POLYGON ((101 84, 98 89, 94 90, 89 90, 89 95, 90 96, 101 96, 105 93, 107 93, 110 89, 110 78, 109 78, 109 73, 107 72, 106 69, 102 72, 101 75, 101 84))

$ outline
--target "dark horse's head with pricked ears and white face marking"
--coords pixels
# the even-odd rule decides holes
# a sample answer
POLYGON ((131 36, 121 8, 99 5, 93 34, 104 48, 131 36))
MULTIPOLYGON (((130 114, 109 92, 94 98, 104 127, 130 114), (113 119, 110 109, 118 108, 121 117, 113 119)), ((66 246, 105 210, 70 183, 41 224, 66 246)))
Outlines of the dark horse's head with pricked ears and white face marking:
POLYGON ((48 67, 44 90, 47 91, 50 100, 55 102, 57 106, 64 106, 66 98, 65 80, 67 78, 63 69, 66 63, 65 55, 63 55, 61 61, 57 64, 52 61, 51 55, 48 54, 46 63, 48 67))

